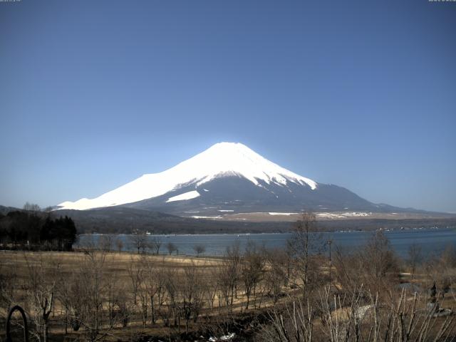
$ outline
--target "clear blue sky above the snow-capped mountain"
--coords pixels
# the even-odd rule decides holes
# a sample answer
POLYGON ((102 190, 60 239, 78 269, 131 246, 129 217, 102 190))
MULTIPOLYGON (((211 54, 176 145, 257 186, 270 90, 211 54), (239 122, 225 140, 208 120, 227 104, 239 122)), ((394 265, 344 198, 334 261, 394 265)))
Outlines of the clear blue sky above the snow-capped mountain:
POLYGON ((95 197, 220 141, 456 212, 456 3, 0 2, 0 204, 95 197))

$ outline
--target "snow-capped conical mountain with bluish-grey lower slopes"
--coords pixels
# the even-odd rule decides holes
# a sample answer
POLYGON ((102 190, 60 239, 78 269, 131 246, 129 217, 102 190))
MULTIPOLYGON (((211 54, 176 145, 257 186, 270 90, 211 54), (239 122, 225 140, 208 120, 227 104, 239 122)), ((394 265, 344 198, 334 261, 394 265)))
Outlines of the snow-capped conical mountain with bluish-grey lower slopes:
POLYGON ((192 217, 302 210, 400 211, 386 204, 368 202, 343 187, 297 175, 234 142, 217 143, 169 170, 142 175, 93 199, 63 202, 56 209, 105 207, 192 217))

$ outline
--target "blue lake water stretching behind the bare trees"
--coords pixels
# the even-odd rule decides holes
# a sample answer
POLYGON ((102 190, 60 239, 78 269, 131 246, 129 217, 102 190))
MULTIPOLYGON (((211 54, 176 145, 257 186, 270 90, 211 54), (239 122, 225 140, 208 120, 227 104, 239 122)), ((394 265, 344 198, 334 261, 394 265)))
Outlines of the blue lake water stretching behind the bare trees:
MULTIPOLYGON (((341 247, 342 249, 353 250, 362 246, 372 237, 373 232, 331 232, 323 233, 325 241, 331 239, 332 249, 341 247)), ((445 247, 452 245, 456 248, 456 229, 408 229, 385 232, 391 247, 400 257, 407 257, 408 249, 411 244, 418 244, 423 255, 440 254, 445 247)), ((80 236, 76 247, 86 245, 88 242, 97 243, 101 234, 83 234, 80 236)), ((160 253, 166 253, 166 244, 172 242, 177 246, 179 254, 195 255, 193 247, 196 244, 204 245, 207 256, 221 256, 227 247, 239 243, 241 249, 250 242, 264 245, 268 248, 286 247, 286 241, 290 239, 291 233, 264 233, 264 234, 182 234, 182 235, 147 235, 148 239, 158 237, 162 242, 160 253)), ((133 251, 129 235, 119 234, 110 235, 115 239, 123 241, 123 250, 133 251)), ((113 249, 115 249, 113 243, 113 249)))

